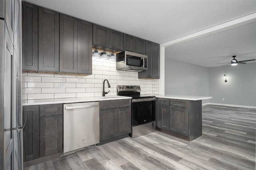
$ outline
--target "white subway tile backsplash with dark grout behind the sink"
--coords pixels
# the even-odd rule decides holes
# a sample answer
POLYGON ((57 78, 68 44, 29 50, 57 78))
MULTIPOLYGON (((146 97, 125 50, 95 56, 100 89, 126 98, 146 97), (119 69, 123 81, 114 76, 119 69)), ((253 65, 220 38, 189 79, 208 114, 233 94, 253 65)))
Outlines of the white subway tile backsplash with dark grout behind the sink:
POLYGON ((158 94, 159 80, 138 79, 138 72, 116 70, 116 62, 92 59, 92 74, 88 76, 67 74, 22 73, 22 100, 76 98, 102 96, 103 80, 106 96, 117 95, 117 85, 140 85, 141 94, 158 94), (59 83, 65 88, 59 89, 59 83))

